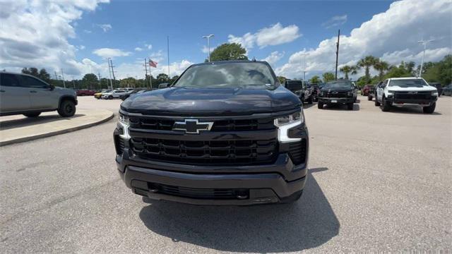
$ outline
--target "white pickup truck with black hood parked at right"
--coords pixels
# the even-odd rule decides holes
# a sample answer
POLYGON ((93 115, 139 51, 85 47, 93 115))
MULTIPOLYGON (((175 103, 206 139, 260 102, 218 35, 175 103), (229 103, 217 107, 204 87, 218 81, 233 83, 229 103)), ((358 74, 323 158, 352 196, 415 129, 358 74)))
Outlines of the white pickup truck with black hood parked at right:
POLYGON ((388 78, 376 87, 375 106, 382 111, 391 107, 422 107, 426 114, 435 111, 438 90, 423 78, 388 78))

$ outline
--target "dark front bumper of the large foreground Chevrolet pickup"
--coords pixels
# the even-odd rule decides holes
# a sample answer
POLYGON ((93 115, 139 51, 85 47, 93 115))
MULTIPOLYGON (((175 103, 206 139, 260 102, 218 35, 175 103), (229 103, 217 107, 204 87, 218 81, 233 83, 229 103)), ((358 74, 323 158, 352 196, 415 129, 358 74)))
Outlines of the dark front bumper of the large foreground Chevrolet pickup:
MULTIPOLYGON (((120 138, 120 132, 118 128, 115 130, 115 140, 120 138)), ((288 152, 280 152, 272 163, 246 166, 160 162, 135 156, 128 142, 123 140, 123 148, 117 149, 117 169, 133 193, 155 200, 195 205, 280 202, 302 191, 307 180, 307 128, 303 125, 290 129, 289 135, 306 140, 306 159, 297 165, 288 152), (230 195, 225 196, 225 193, 230 195)), ((280 143, 280 151, 289 146, 290 143, 280 143)))

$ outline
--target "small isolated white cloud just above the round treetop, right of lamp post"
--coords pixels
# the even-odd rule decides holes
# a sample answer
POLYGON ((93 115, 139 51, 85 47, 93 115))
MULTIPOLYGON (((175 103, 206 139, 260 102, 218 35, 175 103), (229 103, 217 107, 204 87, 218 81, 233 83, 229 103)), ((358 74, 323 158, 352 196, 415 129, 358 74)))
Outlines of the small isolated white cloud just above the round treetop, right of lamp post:
POLYGON ((249 49, 252 49, 255 44, 262 49, 270 45, 293 42, 300 36, 302 35, 299 34, 299 28, 297 25, 288 25, 287 27, 283 27, 280 23, 276 23, 268 28, 262 28, 255 33, 247 32, 242 37, 229 35, 228 41, 231 43, 235 42, 242 44, 248 52, 249 49))

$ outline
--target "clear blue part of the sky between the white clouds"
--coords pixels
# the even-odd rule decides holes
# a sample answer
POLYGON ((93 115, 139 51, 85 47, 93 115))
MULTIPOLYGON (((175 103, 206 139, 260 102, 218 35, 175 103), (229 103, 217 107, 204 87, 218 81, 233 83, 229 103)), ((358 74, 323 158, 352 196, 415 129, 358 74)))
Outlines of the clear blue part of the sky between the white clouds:
POLYGON ((290 54, 316 47, 321 40, 336 35, 338 28, 343 34, 350 34, 374 14, 385 11, 389 4, 391 1, 112 1, 96 11, 84 13, 76 21, 78 36, 69 42, 85 46, 77 54, 79 60, 102 61, 102 57, 93 56, 92 52, 106 47, 133 52, 114 59, 115 64, 145 58, 159 50, 163 53, 162 63, 166 63, 166 37, 169 36, 170 61, 187 59, 196 63, 206 59, 206 54, 201 52, 206 45, 202 35, 214 34, 211 45, 217 46, 227 42, 228 35, 241 36, 275 23, 297 25, 302 34, 297 40, 249 52, 250 58, 264 59, 275 50, 284 51, 280 59, 283 62, 290 54), (334 16, 344 15, 347 21, 343 25, 331 28, 322 25, 334 16), (103 32, 97 24, 109 24, 112 29, 103 32), (145 49, 144 44, 152 44, 152 49, 145 49), (134 52, 136 47, 145 50, 134 52))

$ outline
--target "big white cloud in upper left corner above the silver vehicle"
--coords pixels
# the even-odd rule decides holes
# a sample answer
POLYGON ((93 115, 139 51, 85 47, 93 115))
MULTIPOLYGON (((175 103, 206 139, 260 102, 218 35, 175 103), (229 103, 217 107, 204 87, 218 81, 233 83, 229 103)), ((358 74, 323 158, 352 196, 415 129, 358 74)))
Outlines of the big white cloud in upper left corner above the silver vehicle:
POLYGON ((0 69, 20 71, 35 66, 49 73, 64 69, 80 75, 84 63, 76 61, 76 37, 71 25, 83 11, 94 11, 98 1, 9 1, 0 8, 0 69))

